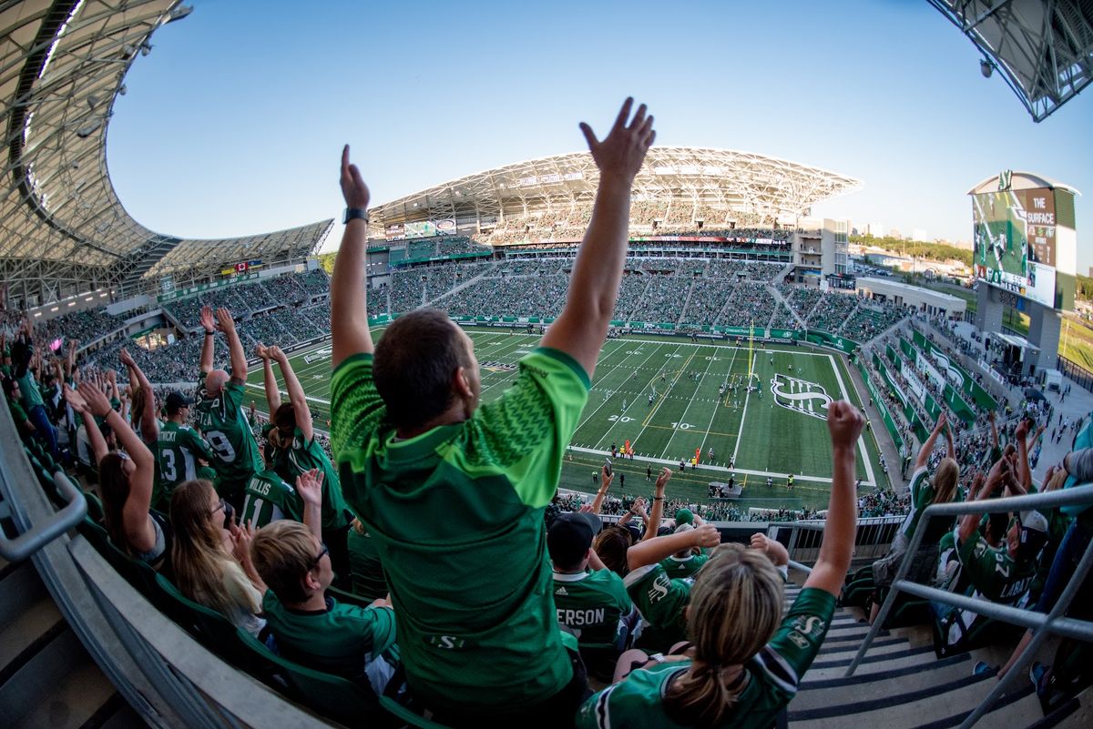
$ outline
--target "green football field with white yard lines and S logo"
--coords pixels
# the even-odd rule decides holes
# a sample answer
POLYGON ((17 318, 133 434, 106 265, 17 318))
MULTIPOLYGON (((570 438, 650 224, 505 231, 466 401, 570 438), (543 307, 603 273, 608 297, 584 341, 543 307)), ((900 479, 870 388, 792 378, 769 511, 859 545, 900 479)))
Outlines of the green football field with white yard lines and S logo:
MULTIPOLYGON (((540 336, 498 330, 469 334, 481 367, 482 402, 487 403, 516 378, 520 357, 538 345, 540 336)), ((330 345, 293 352, 291 361, 316 425, 325 429, 330 345)), ((279 386, 283 387, 280 378, 279 386)), ((260 368, 251 369, 247 387, 248 396, 265 410, 260 368)), ((705 500, 710 481, 727 482, 732 477, 743 486, 737 502, 742 510, 822 509, 832 466, 826 406, 842 398, 861 405, 842 359, 823 350, 642 335, 609 339, 560 486, 595 491, 592 471, 612 446, 623 449, 628 441, 634 457, 615 459, 625 483, 616 478, 612 493, 646 494, 651 490, 646 467, 668 466, 674 471, 670 497, 705 500), (686 463, 682 473, 680 461, 686 463), (787 489, 789 474, 795 477, 792 490, 787 489)), ((872 432, 862 433, 857 457, 862 490, 878 482, 889 487, 877 453, 872 432)))

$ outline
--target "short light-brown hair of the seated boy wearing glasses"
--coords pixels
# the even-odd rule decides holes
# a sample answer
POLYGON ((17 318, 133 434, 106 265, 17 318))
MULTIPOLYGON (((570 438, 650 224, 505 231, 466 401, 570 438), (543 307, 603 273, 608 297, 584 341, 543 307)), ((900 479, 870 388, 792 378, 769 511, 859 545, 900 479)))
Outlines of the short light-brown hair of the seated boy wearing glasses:
POLYGON ((260 528, 250 542, 250 559, 266 586, 285 603, 303 602, 304 577, 315 566, 315 539, 299 522, 280 519, 260 528))

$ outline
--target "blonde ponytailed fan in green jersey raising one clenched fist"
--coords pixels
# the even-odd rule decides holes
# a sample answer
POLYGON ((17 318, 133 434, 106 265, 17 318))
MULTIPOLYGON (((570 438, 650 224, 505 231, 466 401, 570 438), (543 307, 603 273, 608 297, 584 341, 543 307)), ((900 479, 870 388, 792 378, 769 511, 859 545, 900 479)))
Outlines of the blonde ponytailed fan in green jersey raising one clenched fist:
POLYGON ((827 524, 820 558, 789 612, 781 614, 785 583, 764 551, 719 547, 691 590, 691 646, 679 656, 651 656, 651 666, 593 695, 577 715, 579 729, 774 724, 820 650, 850 563, 854 443, 863 422, 849 403, 828 408, 834 473, 827 524))

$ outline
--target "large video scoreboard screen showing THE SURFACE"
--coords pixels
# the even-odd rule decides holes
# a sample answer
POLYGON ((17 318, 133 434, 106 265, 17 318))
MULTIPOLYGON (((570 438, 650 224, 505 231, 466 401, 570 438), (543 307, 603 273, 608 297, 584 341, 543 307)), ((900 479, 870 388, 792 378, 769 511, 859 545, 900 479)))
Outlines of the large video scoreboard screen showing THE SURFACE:
POLYGON ((1003 190, 972 196, 973 265, 979 280, 1055 306, 1055 191, 1003 190))

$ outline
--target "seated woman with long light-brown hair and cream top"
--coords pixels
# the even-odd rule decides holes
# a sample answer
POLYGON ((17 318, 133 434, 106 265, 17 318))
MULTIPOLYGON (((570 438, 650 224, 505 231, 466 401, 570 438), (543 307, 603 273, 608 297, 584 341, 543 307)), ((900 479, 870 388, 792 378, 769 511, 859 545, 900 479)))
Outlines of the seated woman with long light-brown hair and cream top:
POLYGON ((171 524, 171 563, 178 589, 257 637, 266 625, 258 617, 266 584, 250 563, 250 529, 231 523, 231 538, 224 541, 224 500, 205 480, 175 488, 171 524))

